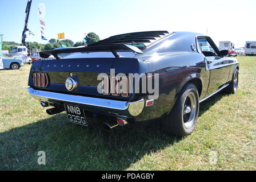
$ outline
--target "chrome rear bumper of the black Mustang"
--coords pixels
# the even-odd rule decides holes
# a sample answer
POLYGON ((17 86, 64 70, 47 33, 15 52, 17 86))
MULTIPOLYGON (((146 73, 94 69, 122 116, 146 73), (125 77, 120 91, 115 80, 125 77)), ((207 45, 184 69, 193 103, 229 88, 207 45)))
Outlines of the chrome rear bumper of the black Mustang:
POLYGON ((49 102, 50 104, 74 104, 82 109, 107 115, 131 118, 139 115, 144 108, 144 100, 135 102, 108 100, 104 98, 74 96, 70 94, 48 92, 27 88, 29 94, 36 100, 49 102))

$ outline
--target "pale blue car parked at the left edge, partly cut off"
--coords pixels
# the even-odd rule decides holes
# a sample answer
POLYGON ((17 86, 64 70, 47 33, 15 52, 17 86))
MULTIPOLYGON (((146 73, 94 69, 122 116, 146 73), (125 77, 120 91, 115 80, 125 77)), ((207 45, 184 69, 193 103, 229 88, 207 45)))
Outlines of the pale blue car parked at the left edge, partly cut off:
POLYGON ((23 66, 23 60, 21 58, 3 57, 0 54, 0 69, 19 69, 23 66))

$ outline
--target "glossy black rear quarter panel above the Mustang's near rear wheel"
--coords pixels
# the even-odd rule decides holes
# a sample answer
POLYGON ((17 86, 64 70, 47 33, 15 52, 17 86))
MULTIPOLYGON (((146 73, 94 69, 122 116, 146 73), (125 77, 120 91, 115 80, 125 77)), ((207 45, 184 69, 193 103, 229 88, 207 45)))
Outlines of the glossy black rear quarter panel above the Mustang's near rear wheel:
POLYGON ((146 61, 150 73, 159 74, 159 97, 154 105, 145 107, 137 121, 159 118, 169 114, 183 86, 195 78, 202 82, 201 97, 209 84, 204 56, 197 52, 177 52, 163 55, 159 60, 146 61))

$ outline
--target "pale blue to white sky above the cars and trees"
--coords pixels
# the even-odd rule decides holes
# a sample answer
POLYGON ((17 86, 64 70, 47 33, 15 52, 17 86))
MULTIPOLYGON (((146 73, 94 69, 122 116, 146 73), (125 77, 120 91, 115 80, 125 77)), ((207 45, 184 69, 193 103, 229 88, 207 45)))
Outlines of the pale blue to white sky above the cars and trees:
MULTIPOLYGON (((38 3, 46 5, 47 39, 65 38, 81 41, 84 33, 95 32, 101 39, 135 31, 196 31, 217 43, 231 40, 243 46, 256 40, 256 1, 170 1, 170 0, 33 0, 28 28, 41 40, 38 3)), ((27 0, 0 0, 0 34, 3 40, 21 43, 27 0)), ((29 40, 27 36, 27 41, 29 40)))

